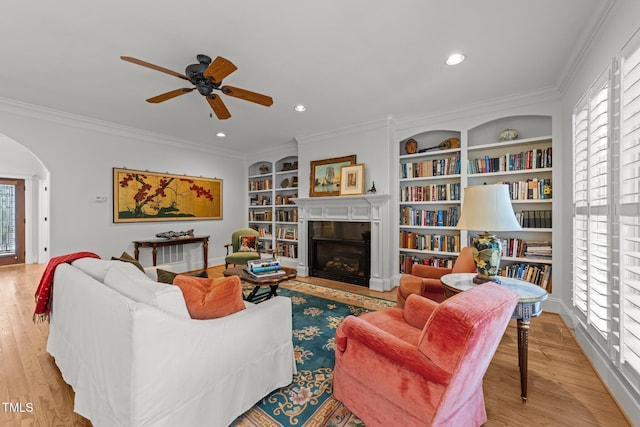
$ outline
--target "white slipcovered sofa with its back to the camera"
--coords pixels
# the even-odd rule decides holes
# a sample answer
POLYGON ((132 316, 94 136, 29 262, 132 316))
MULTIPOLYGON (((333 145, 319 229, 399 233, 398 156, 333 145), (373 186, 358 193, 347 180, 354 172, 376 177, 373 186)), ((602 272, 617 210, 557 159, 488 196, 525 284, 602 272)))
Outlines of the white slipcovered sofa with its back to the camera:
POLYGON ((47 351, 94 426, 227 426, 295 373, 291 300, 211 320, 129 263, 57 267, 47 351))

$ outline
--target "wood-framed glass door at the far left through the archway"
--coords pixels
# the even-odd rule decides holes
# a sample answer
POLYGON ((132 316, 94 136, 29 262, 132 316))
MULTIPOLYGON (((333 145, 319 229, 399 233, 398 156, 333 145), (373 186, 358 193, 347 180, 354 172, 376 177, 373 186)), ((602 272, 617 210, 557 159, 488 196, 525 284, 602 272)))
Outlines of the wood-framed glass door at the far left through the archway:
POLYGON ((24 180, 0 178, 0 265, 24 263, 24 180))

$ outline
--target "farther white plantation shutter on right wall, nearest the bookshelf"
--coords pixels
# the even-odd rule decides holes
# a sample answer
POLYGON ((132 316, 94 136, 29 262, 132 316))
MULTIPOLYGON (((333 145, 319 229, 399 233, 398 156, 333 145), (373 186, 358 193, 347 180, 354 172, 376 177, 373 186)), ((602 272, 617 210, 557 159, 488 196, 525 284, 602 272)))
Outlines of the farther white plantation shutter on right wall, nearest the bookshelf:
MULTIPOLYGON (((609 346, 609 73, 574 112, 574 306, 609 346)), ((608 350, 607 350, 608 352, 608 350)))

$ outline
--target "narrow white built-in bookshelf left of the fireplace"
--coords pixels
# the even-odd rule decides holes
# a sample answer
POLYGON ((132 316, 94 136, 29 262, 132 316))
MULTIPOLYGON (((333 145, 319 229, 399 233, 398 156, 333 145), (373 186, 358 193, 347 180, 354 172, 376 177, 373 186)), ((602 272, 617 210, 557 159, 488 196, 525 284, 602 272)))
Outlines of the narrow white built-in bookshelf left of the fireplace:
POLYGON ((258 161, 249 166, 249 227, 260 233, 264 252, 298 257, 298 158, 258 161))

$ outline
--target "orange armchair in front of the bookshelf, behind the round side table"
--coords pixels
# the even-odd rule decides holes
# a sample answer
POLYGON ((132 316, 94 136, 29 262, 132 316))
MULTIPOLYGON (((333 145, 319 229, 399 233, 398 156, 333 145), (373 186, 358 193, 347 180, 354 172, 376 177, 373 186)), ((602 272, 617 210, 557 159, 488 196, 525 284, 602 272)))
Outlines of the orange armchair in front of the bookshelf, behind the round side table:
POLYGON ((473 248, 463 248, 453 268, 433 267, 431 265, 413 264, 411 274, 403 274, 398 286, 398 307, 403 308, 411 294, 422 295, 435 302, 444 301, 444 287, 440 278, 449 273, 475 273, 473 248))

